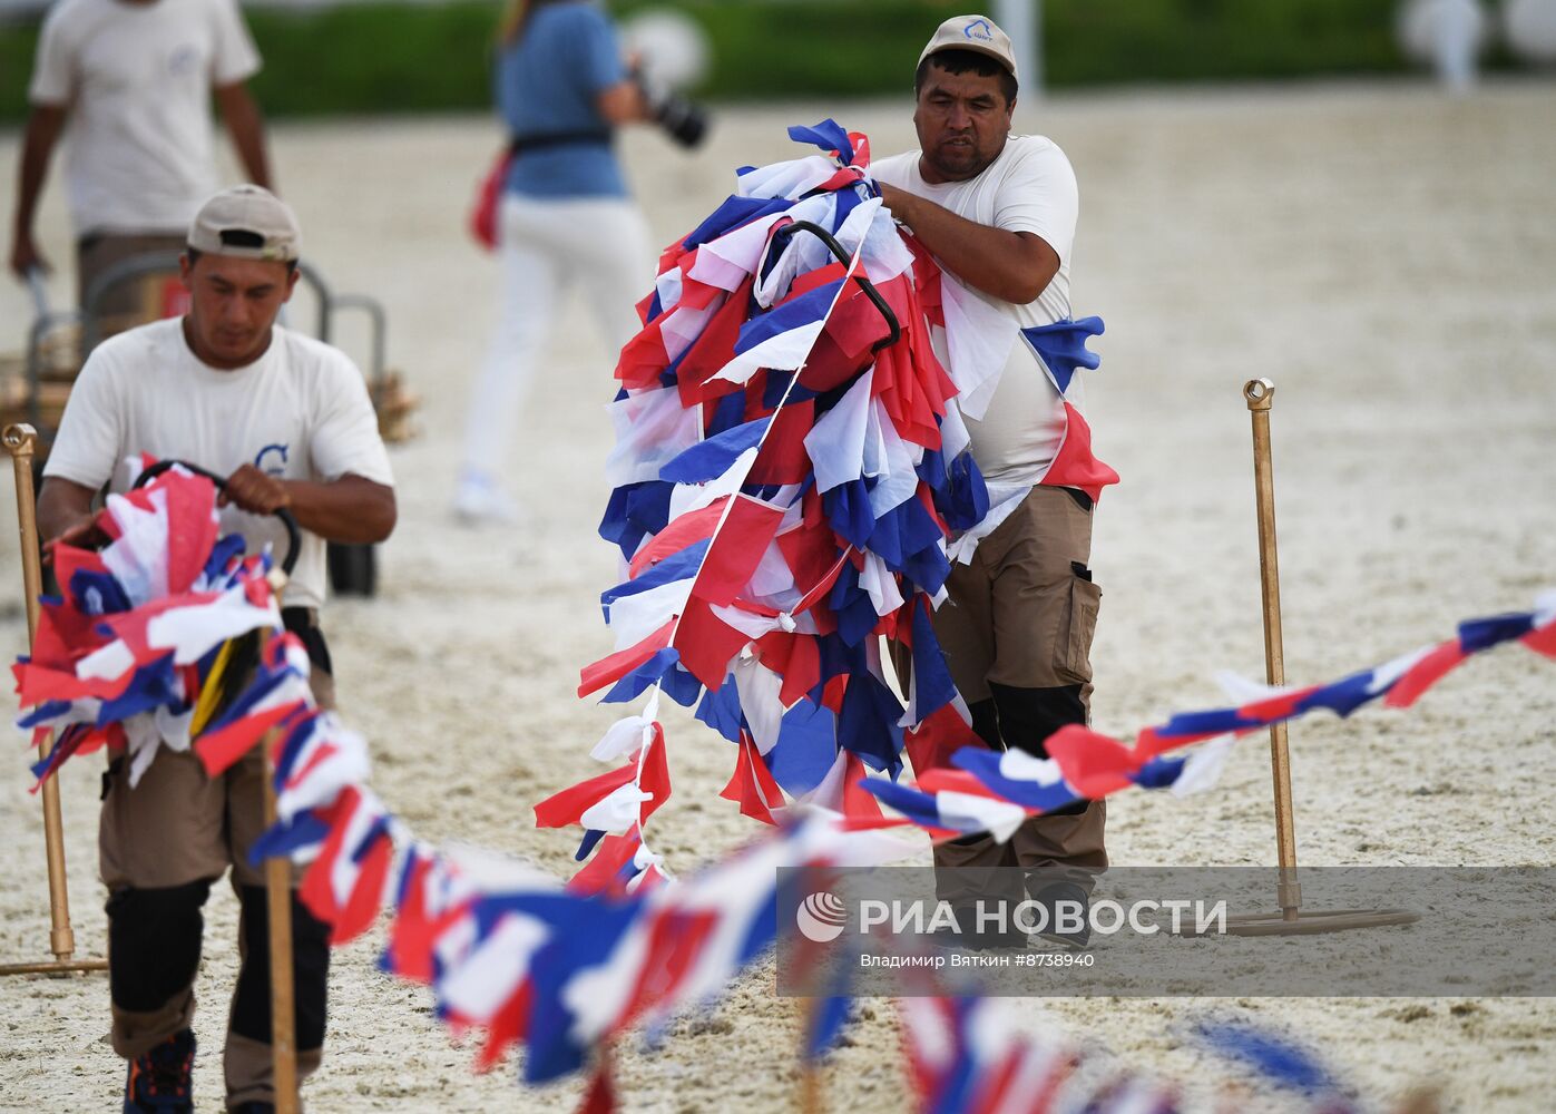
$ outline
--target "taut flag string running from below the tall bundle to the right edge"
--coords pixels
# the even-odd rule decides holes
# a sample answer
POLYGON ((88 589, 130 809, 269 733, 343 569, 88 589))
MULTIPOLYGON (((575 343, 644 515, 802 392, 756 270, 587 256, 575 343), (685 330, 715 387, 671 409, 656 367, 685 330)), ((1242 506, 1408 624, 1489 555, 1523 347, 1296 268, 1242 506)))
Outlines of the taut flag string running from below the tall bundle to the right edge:
POLYGON ((951 758, 957 769, 920 773, 916 787, 881 778, 860 787, 935 839, 991 832, 1004 842, 1029 815, 1130 786, 1179 795, 1204 789, 1220 773, 1232 739, 1310 711, 1346 717, 1374 700, 1408 708, 1470 655, 1505 643, 1556 658, 1556 591, 1544 593, 1530 611, 1466 619, 1453 638, 1329 685, 1270 688, 1221 674, 1223 688, 1240 699, 1237 706, 1178 713, 1141 730, 1133 747, 1071 725, 1049 737, 1049 758, 966 747, 951 758), (1187 756, 1169 755, 1195 744, 1204 745, 1187 756))

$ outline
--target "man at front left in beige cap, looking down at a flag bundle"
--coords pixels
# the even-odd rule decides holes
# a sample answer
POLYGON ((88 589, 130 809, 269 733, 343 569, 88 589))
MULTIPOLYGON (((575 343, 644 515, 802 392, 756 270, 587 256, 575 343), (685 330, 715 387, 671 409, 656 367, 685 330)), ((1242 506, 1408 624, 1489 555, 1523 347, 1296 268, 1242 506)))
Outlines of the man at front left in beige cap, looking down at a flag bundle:
MULTIPOLYGON (((375 543, 395 523, 394 479, 361 372, 339 350, 275 324, 297 283, 297 218, 257 185, 210 198, 180 263, 190 313, 98 345, 70 392, 44 468, 37 518, 45 540, 81 543, 92 501, 123 492, 140 454, 227 478, 223 534, 249 551, 285 552, 272 517, 302 527, 282 619, 308 647, 314 697, 333 705, 319 632, 325 541, 375 543)), ((265 879, 249 867, 265 765, 258 748, 212 779, 188 751, 159 747, 131 787, 124 758, 104 779, 98 857, 109 888, 114 1049, 129 1060, 126 1111, 187 1111, 194 1058, 193 982, 201 907, 232 867, 243 907, 243 963, 226 1042, 227 1106, 269 1109, 269 971, 265 879)), ((297 1061, 324 1046, 328 929, 293 898, 297 1061)))

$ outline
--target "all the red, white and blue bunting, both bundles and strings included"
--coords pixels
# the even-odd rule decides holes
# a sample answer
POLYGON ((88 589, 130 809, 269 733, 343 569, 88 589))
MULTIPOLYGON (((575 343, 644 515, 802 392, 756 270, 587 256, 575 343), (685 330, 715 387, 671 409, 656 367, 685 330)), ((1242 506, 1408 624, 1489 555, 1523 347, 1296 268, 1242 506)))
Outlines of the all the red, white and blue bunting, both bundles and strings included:
MULTIPOLYGON (((39 783, 103 747, 128 755, 132 784, 159 747, 194 753, 215 776, 274 736, 279 818, 255 862, 310 862, 300 896, 335 944, 387 907, 383 969, 429 985, 451 1028, 484 1033, 478 1066, 523 1044, 526 1081, 543 1083, 725 993, 776 937, 780 868, 898 860, 912 846, 876 829, 909 823, 934 839, 1008 837, 1078 798, 1187 792, 1214 783, 1239 734, 1319 708, 1408 706, 1503 643, 1556 657, 1550 594, 1332 685, 1242 683, 1235 706, 1173 716, 1133 744, 1072 727, 1047 758, 983 748, 929 616, 952 562, 1029 489, 983 481, 965 419, 983 414, 990 369, 1018 344, 1063 400, 1077 370, 1097 367, 1085 345, 1102 322, 1021 330, 990 314, 881 207, 865 137, 832 121, 790 135, 822 154, 738 174, 736 193, 664 252, 616 367, 601 523, 622 555, 622 580, 601 596, 615 650, 582 671, 579 695, 643 703, 591 751, 612 769, 535 806, 537 825, 582 831, 571 881, 434 848, 391 814, 369 787, 366 741, 314 706, 269 557, 219 538, 215 489, 177 468, 109 496, 101 551, 54 549, 61 594, 44 601, 33 653, 14 666, 22 727, 53 733, 39 783), (912 658, 906 703, 884 638, 912 658), (671 797, 663 699, 731 744, 722 797, 773 825, 685 878, 646 837, 671 797)), ((1080 412, 1064 401, 1064 414, 1041 482, 1097 496, 1117 478, 1091 454, 1080 412)), ((814 1013, 812 1053, 836 1039, 846 1004, 843 991, 814 1013)), ((938 1013, 918 1032, 962 1035, 951 1060, 927 1050, 938 1038, 910 1041, 924 1049, 910 1052, 924 1108, 1005 1109, 951 1086, 1016 1055, 974 1039, 993 1007, 924 1008, 938 1013)), ((601 1077, 591 1094, 608 1091, 601 1077)), ((1131 1094, 1099 1095, 1095 1109, 1172 1109, 1130 1106, 1131 1094)))

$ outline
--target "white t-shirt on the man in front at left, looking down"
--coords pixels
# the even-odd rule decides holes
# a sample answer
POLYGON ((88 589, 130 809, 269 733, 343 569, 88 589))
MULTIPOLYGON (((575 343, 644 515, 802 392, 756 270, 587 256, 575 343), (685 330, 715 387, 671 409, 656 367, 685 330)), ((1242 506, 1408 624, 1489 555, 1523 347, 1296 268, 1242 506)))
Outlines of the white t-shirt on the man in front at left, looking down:
MULTIPOLYGON (((198 464, 221 476, 254 464, 285 479, 335 481, 352 473, 394 484, 363 373, 339 349, 272 327, 255 363, 218 370, 194 358, 177 317, 109 338, 70 391, 45 476, 82 487, 129 487, 126 459, 198 464)), ((272 545, 286 555, 286 531, 269 515, 221 512, 221 532, 243 534, 249 552, 272 545)), ((324 540, 302 532, 286 607, 324 602, 324 540)))

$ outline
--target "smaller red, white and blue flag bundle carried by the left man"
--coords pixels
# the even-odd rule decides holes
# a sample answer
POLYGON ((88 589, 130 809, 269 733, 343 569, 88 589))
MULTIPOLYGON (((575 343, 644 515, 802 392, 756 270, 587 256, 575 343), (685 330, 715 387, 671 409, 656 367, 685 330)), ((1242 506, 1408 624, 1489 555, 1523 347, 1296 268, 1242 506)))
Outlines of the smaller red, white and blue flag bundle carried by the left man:
POLYGON ((282 627, 269 554, 244 557, 241 537, 218 538, 215 487, 177 468, 110 495, 95 526, 109 538, 100 551, 53 546, 61 594, 40 601, 33 652, 12 666, 19 725, 36 742, 54 733, 33 767, 39 784, 104 745, 128 751, 132 786, 159 747, 193 744, 209 770, 226 769, 299 706, 299 655, 305 691, 307 653, 277 636, 263 691, 221 702, 244 680, 233 639, 282 627))

